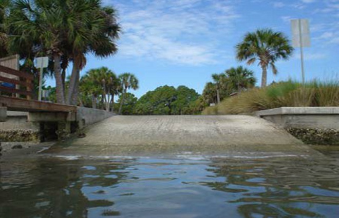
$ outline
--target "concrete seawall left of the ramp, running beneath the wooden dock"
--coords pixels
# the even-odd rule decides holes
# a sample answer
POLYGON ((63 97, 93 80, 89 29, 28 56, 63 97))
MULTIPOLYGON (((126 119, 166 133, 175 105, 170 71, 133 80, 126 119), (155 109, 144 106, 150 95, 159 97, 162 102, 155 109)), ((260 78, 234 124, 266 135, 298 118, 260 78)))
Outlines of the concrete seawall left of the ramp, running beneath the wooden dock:
POLYGON ((0 122, 0 141, 51 140, 58 137, 56 131, 59 123, 67 123, 69 130, 71 125, 83 129, 113 115, 104 110, 84 107, 77 107, 76 113, 7 111, 3 116, 4 122, 0 122))

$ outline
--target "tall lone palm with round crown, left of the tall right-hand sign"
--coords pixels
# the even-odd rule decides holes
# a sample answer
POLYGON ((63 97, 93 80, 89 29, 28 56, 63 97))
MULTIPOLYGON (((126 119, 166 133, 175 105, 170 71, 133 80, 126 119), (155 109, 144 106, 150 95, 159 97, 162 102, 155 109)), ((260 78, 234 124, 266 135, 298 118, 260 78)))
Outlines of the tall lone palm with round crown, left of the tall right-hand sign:
POLYGON ((275 62, 282 58, 288 60, 293 51, 289 39, 281 32, 272 29, 259 29, 244 36, 243 41, 236 45, 236 58, 247 61, 248 65, 259 61, 262 68, 261 87, 267 83, 267 69, 272 68, 277 74, 275 62))

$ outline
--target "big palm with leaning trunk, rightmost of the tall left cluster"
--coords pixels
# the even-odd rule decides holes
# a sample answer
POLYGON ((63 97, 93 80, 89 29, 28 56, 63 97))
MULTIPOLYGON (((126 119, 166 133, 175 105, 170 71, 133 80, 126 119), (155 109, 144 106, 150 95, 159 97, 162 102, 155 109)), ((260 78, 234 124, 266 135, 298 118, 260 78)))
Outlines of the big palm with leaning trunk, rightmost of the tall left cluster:
POLYGON ((117 12, 112 7, 101 7, 97 0, 77 0, 72 5, 76 11, 76 21, 82 21, 72 28, 72 37, 68 37, 71 48, 73 69, 66 103, 76 104, 80 70, 86 65, 86 53, 106 57, 117 52, 115 44, 119 37, 120 26, 117 23, 117 12))

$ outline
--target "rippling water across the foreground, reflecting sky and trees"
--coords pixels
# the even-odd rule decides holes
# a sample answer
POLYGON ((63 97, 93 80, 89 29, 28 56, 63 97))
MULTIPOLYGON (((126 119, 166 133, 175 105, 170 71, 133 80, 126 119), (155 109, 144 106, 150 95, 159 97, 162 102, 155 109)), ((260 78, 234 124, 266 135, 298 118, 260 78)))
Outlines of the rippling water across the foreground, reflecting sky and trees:
POLYGON ((41 155, 0 166, 4 218, 339 217, 338 151, 323 157, 41 155))

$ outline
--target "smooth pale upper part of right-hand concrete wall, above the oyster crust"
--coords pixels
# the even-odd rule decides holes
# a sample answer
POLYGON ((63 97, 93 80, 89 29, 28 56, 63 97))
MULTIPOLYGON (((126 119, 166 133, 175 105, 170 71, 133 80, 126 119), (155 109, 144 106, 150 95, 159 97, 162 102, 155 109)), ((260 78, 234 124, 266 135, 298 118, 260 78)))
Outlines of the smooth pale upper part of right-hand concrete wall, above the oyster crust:
POLYGON ((339 107, 282 107, 256 115, 283 128, 339 130, 339 107))

